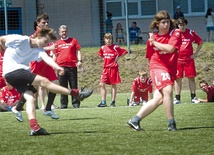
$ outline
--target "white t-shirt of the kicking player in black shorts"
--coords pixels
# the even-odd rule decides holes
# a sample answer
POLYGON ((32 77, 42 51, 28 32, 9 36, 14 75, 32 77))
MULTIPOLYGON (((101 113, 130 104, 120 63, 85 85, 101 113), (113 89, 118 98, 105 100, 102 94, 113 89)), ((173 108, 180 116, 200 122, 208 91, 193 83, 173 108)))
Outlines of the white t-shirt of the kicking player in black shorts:
POLYGON ((42 55, 46 54, 42 48, 31 48, 28 36, 7 35, 5 46, 3 76, 17 69, 29 70, 31 61, 41 61, 42 55))

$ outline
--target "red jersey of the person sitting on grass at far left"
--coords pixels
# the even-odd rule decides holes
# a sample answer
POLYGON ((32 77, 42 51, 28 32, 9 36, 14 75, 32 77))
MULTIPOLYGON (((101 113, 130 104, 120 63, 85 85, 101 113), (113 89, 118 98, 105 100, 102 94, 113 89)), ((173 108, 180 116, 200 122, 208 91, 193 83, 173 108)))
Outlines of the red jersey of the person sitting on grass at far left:
POLYGON ((12 103, 15 103, 16 101, 20 100, 20 98, 21 95, 15 88, 9 90, 8 86, 5 86, 0 91, 0 100, 3 100, 5 103, 8 103, 9 100, 12 103))

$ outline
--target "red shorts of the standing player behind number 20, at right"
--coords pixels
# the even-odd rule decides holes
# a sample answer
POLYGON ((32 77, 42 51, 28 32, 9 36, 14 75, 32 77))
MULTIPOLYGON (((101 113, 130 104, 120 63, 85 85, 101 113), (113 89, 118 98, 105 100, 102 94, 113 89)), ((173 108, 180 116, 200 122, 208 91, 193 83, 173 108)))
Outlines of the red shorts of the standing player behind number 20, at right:
POLYGON ((177 78, 187 78, 196 77, 196 68, 194 60, 186 61, 185 63, 178 61, 177 63, 177 78))

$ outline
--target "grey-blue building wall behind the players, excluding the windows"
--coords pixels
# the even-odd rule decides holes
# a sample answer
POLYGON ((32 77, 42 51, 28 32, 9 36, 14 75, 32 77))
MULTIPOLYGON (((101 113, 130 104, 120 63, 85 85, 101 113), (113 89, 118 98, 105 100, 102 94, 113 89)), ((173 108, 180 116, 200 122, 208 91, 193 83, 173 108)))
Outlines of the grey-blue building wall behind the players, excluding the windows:
MULTIPOLYGON (((12 0, 12 7, 22 8, 22 32, 31 35, 34 32, 33 23, 36 19, 36 2, 43 5, 38 12, 48 13, 49 26, 58 33, 60 25, 69 27, 69 36, 78 39, 81 46, 100 46, 100 15, 99 0, 12 0)), ((158 9, 166 10, 173 15, 172 3, 168 0, 159 1, 158 9)), ((105 12, 105 11, 103 11, 105 12)), ((195 30, 203 40, 206 40, 206 27, 204 16, 187 16, 188 28, 195 30)), ((148 32, 152 18, 129 19, 129 26, 133 21, 137 22, 141 31, 148 32)), ((114 20, 113 26, 120 22, 126 31, 125 19, 114 20)), ((103 23, 104 24, 104 23, 103 23)), ((146 40, 147 35, 143 35, 146 40)))

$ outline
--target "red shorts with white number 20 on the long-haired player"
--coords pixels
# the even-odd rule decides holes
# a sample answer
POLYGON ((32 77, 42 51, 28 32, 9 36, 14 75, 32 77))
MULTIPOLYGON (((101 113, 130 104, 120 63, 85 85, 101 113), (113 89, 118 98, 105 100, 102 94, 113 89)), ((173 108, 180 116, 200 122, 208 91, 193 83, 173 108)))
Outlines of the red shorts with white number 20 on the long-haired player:
POLYGON ((152 69, 150 70, 150 76, 154 83, 155 89, 161 90, 168 85, 174 84, 174 78, 166 70, 152 69))

